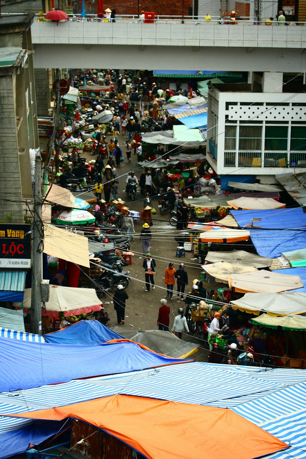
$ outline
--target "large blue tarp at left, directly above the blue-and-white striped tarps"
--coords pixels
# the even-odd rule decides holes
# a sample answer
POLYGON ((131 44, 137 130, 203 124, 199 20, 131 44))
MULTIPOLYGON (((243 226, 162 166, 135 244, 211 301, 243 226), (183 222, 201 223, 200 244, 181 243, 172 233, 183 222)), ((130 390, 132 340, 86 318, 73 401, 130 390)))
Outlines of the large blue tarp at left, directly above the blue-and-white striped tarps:
POLYGON ((187 361, 163 357, 132 342, 80 346, 2 337, 0 355, 5 356, 1 365, 0 392, 187 361))

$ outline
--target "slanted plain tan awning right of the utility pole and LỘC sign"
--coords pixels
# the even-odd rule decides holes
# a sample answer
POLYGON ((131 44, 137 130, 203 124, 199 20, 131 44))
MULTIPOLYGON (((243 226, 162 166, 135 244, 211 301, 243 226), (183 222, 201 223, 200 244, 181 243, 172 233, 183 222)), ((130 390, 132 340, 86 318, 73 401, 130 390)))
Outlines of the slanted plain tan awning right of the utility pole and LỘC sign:
POLYGON ((44 253, 89 268, 87 237, 72 233, 55 225, 44 225, 44 253))

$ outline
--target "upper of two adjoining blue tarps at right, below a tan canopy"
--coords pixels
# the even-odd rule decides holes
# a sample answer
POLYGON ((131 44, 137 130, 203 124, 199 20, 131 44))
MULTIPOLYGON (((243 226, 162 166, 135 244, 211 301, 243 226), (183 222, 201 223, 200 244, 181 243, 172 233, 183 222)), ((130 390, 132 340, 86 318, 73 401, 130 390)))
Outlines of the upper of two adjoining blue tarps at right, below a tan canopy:
POLYGON ((231 214, 241 227, 252 223, 252 218, 261 218, 261 222, 254 224, 261 226, 262 229, 306 229, 306 213, 303 212, 302 207, 273 210, 232 210, 231 214))

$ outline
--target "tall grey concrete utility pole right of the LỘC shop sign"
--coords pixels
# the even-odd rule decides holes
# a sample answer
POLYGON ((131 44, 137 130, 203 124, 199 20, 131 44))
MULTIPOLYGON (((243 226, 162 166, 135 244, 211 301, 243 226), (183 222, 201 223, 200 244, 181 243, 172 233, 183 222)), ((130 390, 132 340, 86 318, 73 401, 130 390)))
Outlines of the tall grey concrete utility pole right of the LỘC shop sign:
POLYGON ((31 332, 41 335, 41 280, 43 269, 43 224, 41 219, 41 159, 35 157, 34 215, 32 232, 32 295, 31 295, 31 332))

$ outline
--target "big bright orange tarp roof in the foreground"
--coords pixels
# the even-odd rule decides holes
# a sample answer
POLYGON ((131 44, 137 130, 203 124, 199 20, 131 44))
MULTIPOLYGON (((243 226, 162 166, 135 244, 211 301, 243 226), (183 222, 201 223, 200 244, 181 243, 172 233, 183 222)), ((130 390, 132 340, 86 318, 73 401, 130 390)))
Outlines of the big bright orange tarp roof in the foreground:
POLYGON ((229 409, 129 395, 113 395, 14 417, 82 420, 149 459, 194 459, 203 455, 206 459, 217 459, 222 451, 226 451, 228 459, 252 459, 288 447, 229 409), (222 435, 226 428, 229 436, 222 435))

